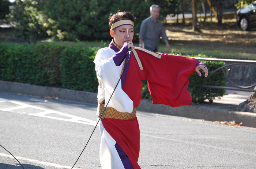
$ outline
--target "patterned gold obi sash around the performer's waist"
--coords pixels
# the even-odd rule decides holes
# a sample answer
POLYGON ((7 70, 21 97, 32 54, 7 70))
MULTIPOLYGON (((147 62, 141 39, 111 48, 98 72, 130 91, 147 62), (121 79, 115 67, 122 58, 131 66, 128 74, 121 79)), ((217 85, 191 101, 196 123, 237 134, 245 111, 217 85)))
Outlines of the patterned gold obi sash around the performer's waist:
MULTIPOLYGON (((101 117, 102 111, 105 109, 105 104, 98 103, 97 108, 97 116, 101 117)), ((120 119, 120 120, 130 120, 136 117, 136 108, 133 108, 132 113, 128 112, 120 112, 114 109, 113 107, 106 107, 106 110, 104 111, 101 118, 114 118, 114 119, 120 119)))

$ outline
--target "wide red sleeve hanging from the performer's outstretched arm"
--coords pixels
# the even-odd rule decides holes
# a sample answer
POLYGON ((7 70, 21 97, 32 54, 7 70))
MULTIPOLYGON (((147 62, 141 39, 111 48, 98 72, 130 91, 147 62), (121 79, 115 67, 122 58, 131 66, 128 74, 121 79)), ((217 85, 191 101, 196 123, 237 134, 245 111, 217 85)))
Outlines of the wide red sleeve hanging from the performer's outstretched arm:
POLYGON ((192 104, 188 77, 195 72, 197 59, 170 54, 161 54, 161 59, 141 55, 140 59, 153 104, 172 107, 192 104))

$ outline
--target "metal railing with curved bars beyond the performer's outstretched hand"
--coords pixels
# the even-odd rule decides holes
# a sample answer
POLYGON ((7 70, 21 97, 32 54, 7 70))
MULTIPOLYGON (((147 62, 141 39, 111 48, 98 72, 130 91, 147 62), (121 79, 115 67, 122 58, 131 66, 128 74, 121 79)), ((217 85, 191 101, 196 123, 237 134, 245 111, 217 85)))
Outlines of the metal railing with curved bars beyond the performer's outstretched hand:
POLYGON ((212 61, 220 61, 220 62, 236 62, 236 63, 231 63, 231 64, 226 64, 225 66, 222 66, 218 69, 216 69, 215 71, 211 72, 211 74, 209 74, 207 76, 207 78, 205 78, 203 80, 203 82, 200 84, 200 87, 203 88, 213 88, 213 89, 225 89, 225 90, 238 90, 238 91, 252 91, 252 92, 256 92, 256 90, 254 89, 250 89, 252 87, 256 86, 256 83, 251 85, 251 86, 240 86, 236 83, 234 83, 226 74, 226 72, 224 71, 223 68, 225 67, 229 67, 229 66, 233 66, 233 65, 248 65, 248 66, 252 66, 252 67, 256 67, 256 60, 238 60, 238 59, 215 59, 215 58, 195 58, 198 60, 212 60, 212 61), (211 85, 203 85, 203 83, 210 78, 210 76, 212 76, 215 72, 222 70, 227 81, 229 81, 231 84, 233 84, 236 87, 223 87, 223 86, 211 86, 211 85))

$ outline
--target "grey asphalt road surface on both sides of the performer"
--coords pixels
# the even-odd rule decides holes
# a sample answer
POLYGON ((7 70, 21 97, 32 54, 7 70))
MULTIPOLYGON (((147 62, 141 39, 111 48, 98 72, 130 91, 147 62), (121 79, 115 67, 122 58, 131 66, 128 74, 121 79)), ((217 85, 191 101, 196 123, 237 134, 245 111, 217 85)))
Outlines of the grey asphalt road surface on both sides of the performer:
MULTIPOLYGON (((0 144, 25 169, 71 168, 93 131, 96 105, 0 92, 0 144)), ((142 169, 256 168, 256 129, 138 112, 142 169)), ((100 169, 96 129, 76 168, 100 169)), ((22 169, 0 147, 0 169, 22 169)))

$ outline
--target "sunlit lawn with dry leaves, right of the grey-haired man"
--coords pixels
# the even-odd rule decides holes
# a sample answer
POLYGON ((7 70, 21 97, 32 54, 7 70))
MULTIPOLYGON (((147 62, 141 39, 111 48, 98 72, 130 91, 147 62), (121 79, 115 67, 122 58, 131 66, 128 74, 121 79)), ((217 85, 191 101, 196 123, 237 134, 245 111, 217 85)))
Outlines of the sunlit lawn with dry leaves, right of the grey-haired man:
MULTIPOLYGON (((182 21, 180 21, 182 22, 182 21)), ((227 58, 256 59, 256 28, 241 31, 235 19, 223 19, 222 26, 217 26, 213 18, 199 22, 200 31, 193 31, 191 22, 185 24, 169 21, 165 25, 169 39, 170 51, 181 54, 206 54, 207 56, 224 56, 227 58)), ((160 52, 167 52, 161 42, 160 52)))

